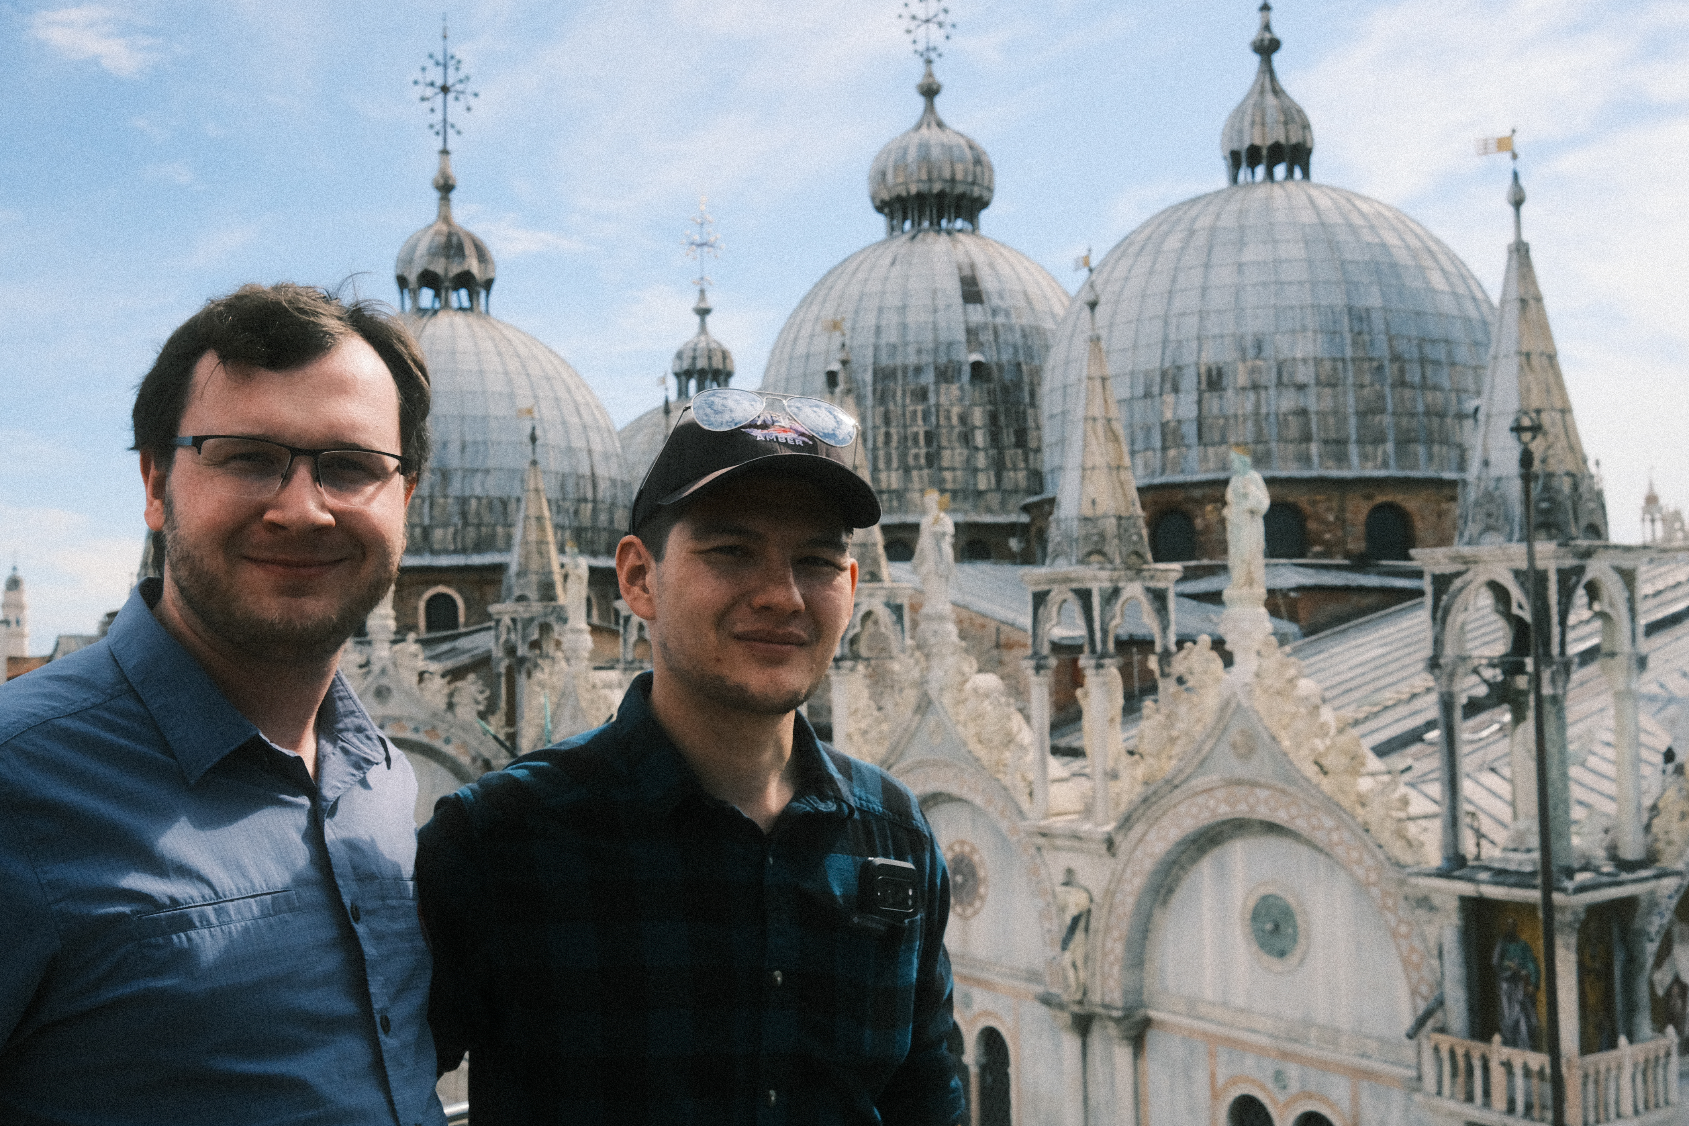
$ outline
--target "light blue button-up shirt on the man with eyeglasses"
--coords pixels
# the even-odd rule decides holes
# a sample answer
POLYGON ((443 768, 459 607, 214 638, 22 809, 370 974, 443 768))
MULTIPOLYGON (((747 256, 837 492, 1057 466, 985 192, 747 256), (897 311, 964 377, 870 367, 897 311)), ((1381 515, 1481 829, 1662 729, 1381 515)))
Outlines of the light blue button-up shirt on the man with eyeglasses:
POLYGON ((312 782, 159 589, 0 685, 0 1121, 444 1123, 410 765, 336 675, 312 782))

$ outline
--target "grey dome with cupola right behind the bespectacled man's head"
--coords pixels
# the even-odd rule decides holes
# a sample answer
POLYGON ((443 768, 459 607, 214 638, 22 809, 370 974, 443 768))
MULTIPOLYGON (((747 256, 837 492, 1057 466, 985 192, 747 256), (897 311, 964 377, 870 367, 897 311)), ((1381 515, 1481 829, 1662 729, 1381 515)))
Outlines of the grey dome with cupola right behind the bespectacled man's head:
POLYGON ((410 236, 395 268, 434 392, 434 457, 410 500, 404 562, 503 566, 530 457, 546 478, 559 549, 574 540, 584 555, 611 555, 632 488, 610 415, 562 356, 485 312, 493 262, 451 216, 446 154, 434 186, 439 218, 410 236))

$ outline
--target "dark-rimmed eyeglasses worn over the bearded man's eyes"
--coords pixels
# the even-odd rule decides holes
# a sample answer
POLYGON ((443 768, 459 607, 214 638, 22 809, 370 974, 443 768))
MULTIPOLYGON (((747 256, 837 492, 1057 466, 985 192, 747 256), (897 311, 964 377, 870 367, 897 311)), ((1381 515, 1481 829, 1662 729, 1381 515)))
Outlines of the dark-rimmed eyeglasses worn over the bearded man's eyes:
POLYGON ((199 454, 213 488, 225 496, 269 500, 282 490, 296 457, 309 457, 312 479, 333 505, 368 508, 397 476, 409 476, 410 459, 375 449, 299 449, 262 437, 189 434, 171 442, 199 454))

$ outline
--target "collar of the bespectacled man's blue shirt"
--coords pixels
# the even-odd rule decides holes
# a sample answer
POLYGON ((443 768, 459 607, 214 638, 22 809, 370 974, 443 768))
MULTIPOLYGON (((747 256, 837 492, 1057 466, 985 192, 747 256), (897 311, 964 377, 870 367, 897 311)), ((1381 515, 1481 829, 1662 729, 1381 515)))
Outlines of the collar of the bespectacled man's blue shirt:
MULTIPOLYGON (((162 594, 162 579, 142 579, 106 631, 106 643, 164 733, 187 785, 198 785, 230 751, 263 736, 235 711, 193 653, 154 618, 152 608, 162 594)), ((336 672, 318 712, 321 800, 333 802, 377 761, 392 765, 387 743, 351 685, 336 672), (324 755, 334 748, 345 755, 324 755)))

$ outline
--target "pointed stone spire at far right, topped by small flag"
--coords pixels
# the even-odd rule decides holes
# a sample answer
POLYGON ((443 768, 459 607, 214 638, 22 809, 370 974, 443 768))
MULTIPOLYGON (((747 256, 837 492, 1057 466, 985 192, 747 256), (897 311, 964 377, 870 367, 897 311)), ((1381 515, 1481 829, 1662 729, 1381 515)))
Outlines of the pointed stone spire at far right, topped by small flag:
POLYGON ((1523 240, 1525 189, 1513 169, 1507 201, 1513 208, 1513 243, 1490 341, 1473 461, 1461 490, 1461 544, 1508 544, 1525 539, 1518 510, 1518 442, 1510 427, 1520 410, 1535 412, 1542 436, 1537 461, 1537 539, 1605 540, 1606 500, 1589 471, 1578 420, 1549 329, 1549 312, 1523 240))

